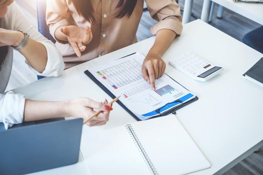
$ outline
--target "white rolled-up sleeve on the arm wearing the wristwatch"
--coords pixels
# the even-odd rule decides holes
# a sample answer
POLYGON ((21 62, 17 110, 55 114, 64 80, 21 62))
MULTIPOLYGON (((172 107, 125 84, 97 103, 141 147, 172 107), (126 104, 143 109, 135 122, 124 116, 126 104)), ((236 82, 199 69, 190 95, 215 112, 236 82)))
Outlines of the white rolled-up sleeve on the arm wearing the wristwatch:
POLYGON ((28 33, 30 37, 36 41, 42 43, 47 50, 48 61, 45 67, 45 70, 41 73, 35 70, 27 61, 26 63, 29 64, 29 67, 38 75, 42 76, 59 76, 63 69, 64 69, 64 61, 60 51, 57 49, 55 44, 45 38, 36 28, 34 28, 30 22, 27 20, 24 13, 20 10, 17 6, 16 2, 14 2, 13 8, 13 20, 14 20, 14 30, 23 30, 24 32, 28 33))

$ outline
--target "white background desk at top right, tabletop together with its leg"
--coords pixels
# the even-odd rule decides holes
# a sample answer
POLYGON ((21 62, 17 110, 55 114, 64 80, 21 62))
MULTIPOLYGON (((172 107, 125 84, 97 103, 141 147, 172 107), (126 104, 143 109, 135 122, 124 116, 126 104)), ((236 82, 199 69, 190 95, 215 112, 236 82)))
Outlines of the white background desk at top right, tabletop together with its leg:
MULTIPOLYGON (((242 16, 263 25, 263 3, 233 2, 233 0, 212 0, 242 16)), ((204 0, 201 20, 208 22, 211 0, 204 0)))

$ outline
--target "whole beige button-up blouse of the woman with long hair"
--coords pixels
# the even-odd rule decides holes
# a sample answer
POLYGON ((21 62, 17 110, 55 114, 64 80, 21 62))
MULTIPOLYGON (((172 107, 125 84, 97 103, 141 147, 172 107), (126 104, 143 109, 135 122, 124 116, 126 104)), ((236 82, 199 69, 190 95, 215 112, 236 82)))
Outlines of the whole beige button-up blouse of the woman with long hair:
MULTIPOLYGON (((145 0, 152 18, 159 22, 151 27, 151 33, 163 28, 182 31, 180 7, 174 0, 145 0)), ((143 0, 138 0, 130 17, 116 18, 118 0, 92 0, 96 23, 88 22, 80 16, 72 0, 47 0, 47 24, 55 38, 55 30, 61 25, 89 25, 93 39, 86 45, 81 57, 77 57, 69 43, 57 38, 56 45, 62 51, 66 68, 99 57, 137 41, 136 31, 143 12, 143 0)))

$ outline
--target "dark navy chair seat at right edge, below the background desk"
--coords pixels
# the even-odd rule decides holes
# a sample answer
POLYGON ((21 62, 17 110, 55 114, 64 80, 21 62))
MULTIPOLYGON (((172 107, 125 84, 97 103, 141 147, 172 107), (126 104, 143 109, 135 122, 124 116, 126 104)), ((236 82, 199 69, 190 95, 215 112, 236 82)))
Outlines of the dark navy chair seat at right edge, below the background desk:
POLYGON ((246 45, 263 53, 263 25, 246 33, 242 40, 246 45))

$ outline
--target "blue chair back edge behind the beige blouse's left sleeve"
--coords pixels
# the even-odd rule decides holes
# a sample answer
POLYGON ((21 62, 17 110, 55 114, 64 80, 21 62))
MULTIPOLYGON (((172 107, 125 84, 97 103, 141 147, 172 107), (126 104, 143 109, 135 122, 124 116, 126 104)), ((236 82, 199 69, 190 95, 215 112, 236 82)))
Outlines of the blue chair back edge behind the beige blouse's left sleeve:
POLYGON ((50 34, 49 27, 46 22, 46 0, 38 0, 37 1, 37 14, 38 14, 38 27, 39 32, 51 40, 52 42, 56 42, 56 39, 50 34))

